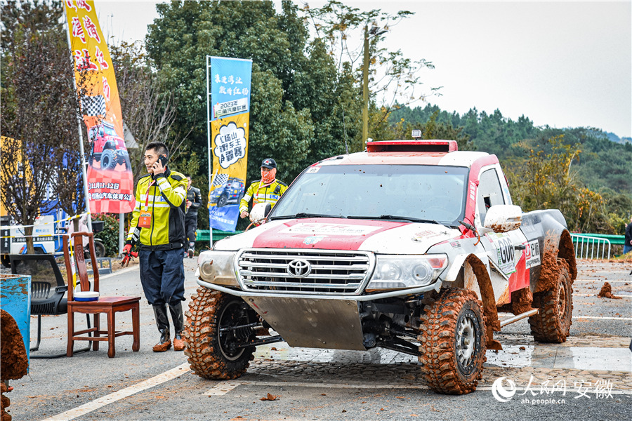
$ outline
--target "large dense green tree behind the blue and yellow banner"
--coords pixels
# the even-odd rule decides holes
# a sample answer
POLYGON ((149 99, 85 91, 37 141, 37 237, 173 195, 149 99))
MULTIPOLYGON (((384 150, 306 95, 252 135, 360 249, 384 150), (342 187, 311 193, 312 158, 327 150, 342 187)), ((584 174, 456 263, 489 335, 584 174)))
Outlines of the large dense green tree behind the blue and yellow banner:
MULTIPOLYGON (((351 68, 337 69, 320 39, 308 42, 298 7, 271 1, 173 1, 157 5, 147 53, 178 100, 174 131, 206 156, 206 55, 253 60, 247 182, 272 156, 290 182, 308 164, 345 151, 360 129, 351 68)), ((206 171, 202 166, 202 171, 206 171)))

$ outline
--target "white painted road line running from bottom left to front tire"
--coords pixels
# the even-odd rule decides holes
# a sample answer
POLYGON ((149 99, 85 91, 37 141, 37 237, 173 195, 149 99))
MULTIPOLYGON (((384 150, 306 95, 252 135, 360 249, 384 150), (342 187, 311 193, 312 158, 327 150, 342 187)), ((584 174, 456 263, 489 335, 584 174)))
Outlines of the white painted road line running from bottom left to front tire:
POLYGON ((99 399, 95 399, 94 401, 85 403, 84 405, 77 406, 77 408, 67 410, 66 412, 60 413, 50 418, 46 418, 46 420, 44 421, 74 420, 77 417, 81 417, 82 415, 91 413, 93 410, 102 408, 103 406, 106 406, 109 403, 120 401, 121 399, 124 399, 138 392, 143 392, 143 390, 145 389, 150 389, 150 387, 154 387, 154 386, 160 385, 161 383, 167 382, 169 380, 173 380, 176 377, 180 377, 180 375, 187 373, 189 370, 190 370, 189 363, 184 363, 181 366, 173 368, 169 371, 165 371, 162 374, 154 376, 136 385, 126 387, 125 389, 121 389, 118 392, 105 395, 99 399))

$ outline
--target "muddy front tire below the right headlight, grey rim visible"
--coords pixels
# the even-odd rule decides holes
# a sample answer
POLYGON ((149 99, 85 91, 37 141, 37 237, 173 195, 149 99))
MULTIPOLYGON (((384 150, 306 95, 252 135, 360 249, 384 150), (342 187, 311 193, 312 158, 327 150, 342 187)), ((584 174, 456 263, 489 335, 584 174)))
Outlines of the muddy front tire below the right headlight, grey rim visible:
POLYGON ((443 290, 421 314, 419 362, 428 387, 442 394, 474 392, 482 377, 485 316, 475 293, 443 290))

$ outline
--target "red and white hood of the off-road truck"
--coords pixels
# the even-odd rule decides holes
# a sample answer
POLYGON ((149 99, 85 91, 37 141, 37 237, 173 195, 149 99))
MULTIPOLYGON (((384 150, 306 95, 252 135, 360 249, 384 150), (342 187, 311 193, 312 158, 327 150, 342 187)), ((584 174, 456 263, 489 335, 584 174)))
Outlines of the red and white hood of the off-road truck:
POLYGON ((305 218, 276 220, 218 241, 215 250, 240 248, 308 248, 420 254, 460 236, 439 224, 383 220, 305 218))

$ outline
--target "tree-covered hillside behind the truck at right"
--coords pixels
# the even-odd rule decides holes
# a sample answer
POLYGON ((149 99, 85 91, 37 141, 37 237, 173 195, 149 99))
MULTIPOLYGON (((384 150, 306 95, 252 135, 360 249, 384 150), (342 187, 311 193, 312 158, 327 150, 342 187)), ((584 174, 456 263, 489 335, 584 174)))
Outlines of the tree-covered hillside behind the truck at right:
POLYGON ((435 105, 390 113, 393 133, 457 140, 459 149, 499 157, 523 210, 560 208, 577 232, 623 234, 632 213, 632 142, 598 128, 534 126, 470 109, 462 116, 435 105), (402 129, 402 126, 405 129, 402 129), (426 135, 430 128, 430 135, 426 135))

